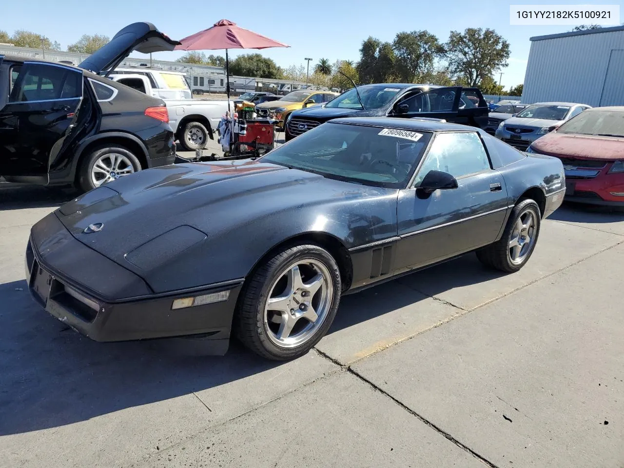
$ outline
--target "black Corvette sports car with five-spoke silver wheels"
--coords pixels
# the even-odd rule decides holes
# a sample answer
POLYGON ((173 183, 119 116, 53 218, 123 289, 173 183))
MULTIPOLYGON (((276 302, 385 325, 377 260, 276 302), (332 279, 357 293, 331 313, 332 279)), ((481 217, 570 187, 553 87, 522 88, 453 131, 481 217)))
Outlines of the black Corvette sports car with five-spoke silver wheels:
POLYGON ((32 227, 29 289, 97 341, 230 333, 306 353, 341 295, 476 251, 514 272, 562 203, 560 160, 431 120, 337 119, 256 160, 95 188, 32 227))

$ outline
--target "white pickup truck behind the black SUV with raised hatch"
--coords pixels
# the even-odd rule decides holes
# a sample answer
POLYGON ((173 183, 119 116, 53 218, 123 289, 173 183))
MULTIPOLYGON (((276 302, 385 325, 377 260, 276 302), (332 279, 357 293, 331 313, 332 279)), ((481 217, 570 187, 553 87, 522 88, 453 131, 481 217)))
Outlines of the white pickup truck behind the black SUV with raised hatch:
MULTIPOLYGON (((176 139, 185 150, 204 149, 208 139, 214 140, 213 132, 228 110, 227 100, 208 99, 167 99, 161 89, 154 89, 150 80, 143 74, 117 74, 115 70, 109 78, 131 88, 165 101, 169 113, 169 125, 176 139)), ((234 103, 230 100, 230 110, 234 103)))

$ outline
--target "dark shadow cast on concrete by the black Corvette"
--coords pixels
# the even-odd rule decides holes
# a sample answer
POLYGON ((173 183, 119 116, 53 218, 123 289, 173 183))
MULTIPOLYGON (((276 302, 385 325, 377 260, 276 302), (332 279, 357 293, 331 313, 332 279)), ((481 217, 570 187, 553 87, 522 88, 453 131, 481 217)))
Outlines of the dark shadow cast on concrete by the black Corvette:
MULTIPOLYGON (((400 281, 423 274, 438 273, 414 273, 400 281)), ((466 284, 489 277, 470 268, 456 280, 466 284)), ((446 280, 442 284, 452 287, 446 280)), ((202 340, 96 343, 42 310, 23 280, 0 285, 0 298, 0 436, 86 421, 281 365, 256 356, 236 340, 225 356, 208 356, 202 340)), ((345 296, 329 333, 424 298, 396 281, 345 296)))

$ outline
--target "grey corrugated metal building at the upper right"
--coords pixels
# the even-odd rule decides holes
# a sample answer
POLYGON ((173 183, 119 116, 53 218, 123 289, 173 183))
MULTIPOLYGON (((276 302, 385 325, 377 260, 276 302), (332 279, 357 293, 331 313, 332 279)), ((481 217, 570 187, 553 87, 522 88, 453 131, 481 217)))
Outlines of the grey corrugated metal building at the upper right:
POLYGON ((530 40, 522 102, 624 105, 624 26, 530 40))

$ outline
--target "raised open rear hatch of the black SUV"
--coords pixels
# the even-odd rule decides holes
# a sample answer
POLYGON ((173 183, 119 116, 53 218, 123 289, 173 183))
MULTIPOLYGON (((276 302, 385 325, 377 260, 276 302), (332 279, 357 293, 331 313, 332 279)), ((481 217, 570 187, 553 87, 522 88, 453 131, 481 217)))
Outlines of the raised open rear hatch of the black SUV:
POLYGON ((101 47, 87 59, 80 68, 109 76, 132 51, 150 54, 151 52, 173 51, 180 42, 173 41, 158 31, 150 22, 135 22, 117 32, 108 44, 101 47))

